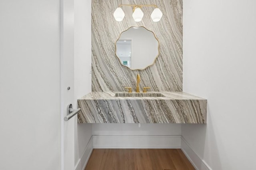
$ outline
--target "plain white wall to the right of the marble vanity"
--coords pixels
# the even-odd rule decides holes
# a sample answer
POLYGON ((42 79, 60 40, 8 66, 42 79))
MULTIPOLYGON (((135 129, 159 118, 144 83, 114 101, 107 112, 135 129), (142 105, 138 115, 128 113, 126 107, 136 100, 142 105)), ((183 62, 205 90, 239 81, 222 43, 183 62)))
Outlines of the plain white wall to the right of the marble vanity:
POLYGON ((208 100, 208 120, 182 136, 212 170, 255 170, 256 1, 183 5, 183 90, 208 100))

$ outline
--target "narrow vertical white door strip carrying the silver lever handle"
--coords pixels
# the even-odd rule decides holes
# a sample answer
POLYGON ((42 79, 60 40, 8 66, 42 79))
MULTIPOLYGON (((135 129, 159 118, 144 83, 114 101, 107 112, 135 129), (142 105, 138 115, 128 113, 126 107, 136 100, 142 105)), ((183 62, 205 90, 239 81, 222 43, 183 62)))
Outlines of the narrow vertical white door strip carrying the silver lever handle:
POLYGON ((61 0, 61 148, 62 170, 74 170, 74 117, 64 121, 74 103, 74 0, 61 0), (69 89, 69 90, 68 90, 69 89))

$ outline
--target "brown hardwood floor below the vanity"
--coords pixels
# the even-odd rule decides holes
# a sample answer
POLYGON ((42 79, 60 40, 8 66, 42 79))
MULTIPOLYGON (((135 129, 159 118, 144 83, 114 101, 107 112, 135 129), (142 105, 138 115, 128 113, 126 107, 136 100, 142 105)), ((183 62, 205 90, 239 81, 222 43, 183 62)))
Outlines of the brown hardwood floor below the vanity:
POLYGON ((195 170, 180 149, 94 149, 85 170, 195 170))

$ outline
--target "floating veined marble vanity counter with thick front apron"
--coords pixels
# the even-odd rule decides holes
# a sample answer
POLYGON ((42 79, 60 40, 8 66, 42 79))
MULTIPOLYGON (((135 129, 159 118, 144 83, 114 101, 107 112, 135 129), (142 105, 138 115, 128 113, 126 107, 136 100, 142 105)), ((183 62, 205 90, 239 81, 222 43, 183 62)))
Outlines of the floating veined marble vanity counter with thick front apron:
POLYGON ((185 92, 164 97, 115 97, 124 92, 90 92, 78 99, 79 123, 206 123, 207 100, 185 92))

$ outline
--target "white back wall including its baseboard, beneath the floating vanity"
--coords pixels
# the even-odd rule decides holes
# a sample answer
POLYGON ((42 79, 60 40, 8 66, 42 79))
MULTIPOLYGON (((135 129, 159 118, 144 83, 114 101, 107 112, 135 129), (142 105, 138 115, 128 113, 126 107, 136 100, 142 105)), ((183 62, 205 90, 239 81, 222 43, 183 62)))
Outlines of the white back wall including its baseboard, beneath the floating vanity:
POLYGON ((94 148, 180 148, 181 124, 93 124, 94 148))

